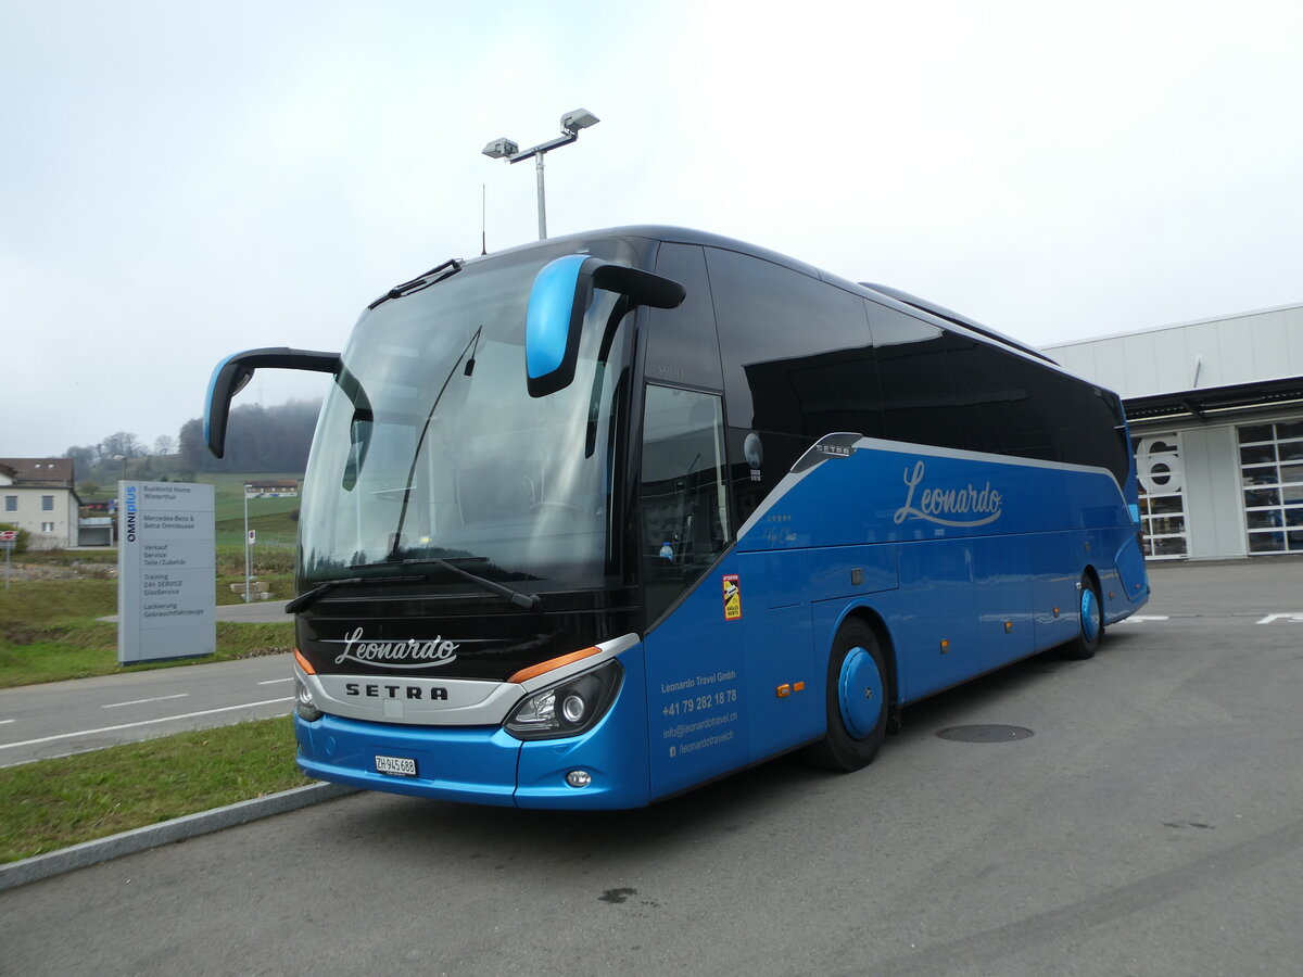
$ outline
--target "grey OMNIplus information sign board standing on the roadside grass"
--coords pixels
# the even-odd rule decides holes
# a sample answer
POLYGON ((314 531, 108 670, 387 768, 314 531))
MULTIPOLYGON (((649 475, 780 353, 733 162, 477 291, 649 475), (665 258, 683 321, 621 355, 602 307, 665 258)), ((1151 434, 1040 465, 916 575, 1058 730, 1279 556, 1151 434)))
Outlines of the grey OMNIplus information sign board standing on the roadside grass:
POLYGON ((119 482, 117 662, 216 650, 211 485, 119 482))

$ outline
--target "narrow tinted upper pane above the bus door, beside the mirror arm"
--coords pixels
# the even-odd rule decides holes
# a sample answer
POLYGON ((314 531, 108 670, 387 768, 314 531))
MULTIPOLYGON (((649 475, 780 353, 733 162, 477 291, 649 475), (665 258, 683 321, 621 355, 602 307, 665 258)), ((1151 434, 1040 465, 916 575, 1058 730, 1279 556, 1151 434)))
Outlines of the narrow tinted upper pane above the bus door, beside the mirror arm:
POLYGON ((723 388, 715 310, 710 301, 706 259, 701 248, 662 244, 655 271, 683 285, 687 296, 678 309, 649 310, 648 379, 708 389, 723 388))

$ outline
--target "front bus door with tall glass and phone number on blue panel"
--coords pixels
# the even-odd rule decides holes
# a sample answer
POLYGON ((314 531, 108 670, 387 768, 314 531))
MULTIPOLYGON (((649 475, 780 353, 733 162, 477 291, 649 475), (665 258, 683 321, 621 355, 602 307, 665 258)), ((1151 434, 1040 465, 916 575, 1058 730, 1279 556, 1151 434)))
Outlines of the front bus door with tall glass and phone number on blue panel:
POLYGON ((736 555, 719 395, 648 386, 640 546, 652 796, 747 765, 736 555))

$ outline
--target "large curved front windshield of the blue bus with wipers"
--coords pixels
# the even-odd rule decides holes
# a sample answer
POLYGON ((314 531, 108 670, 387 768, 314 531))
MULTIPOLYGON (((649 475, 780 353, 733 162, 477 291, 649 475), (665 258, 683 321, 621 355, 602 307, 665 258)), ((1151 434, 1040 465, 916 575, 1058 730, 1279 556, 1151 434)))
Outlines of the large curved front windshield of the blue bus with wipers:
MULTIPOLYGON (((622 242, 599 244, 592 253, 632 263, 622 242)), ((532 399, 525 309, 552 257, 474 262, 362 317, 313 440, 305 581, 442 560, 524 591, 618 582, 614 461, 632 330, 616 296, 597 292, 575 382, 532 399)), ((444 584, 474 590, 455 573, 422 589, 444 584)))

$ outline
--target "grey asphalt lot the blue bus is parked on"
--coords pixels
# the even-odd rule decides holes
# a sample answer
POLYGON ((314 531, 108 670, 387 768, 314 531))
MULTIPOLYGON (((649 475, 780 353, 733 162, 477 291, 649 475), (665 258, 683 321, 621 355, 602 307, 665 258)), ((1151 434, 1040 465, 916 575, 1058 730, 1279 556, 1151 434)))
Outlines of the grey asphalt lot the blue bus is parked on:
POLYGON ((644 812, 361 793, 0 894, 14 974, 1293 974, 1303 563, 644 812), (1295 616, 1296 615, 1296 616, 1295 616), (999 723, 1031 736, 937 733, 999 723))

